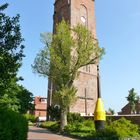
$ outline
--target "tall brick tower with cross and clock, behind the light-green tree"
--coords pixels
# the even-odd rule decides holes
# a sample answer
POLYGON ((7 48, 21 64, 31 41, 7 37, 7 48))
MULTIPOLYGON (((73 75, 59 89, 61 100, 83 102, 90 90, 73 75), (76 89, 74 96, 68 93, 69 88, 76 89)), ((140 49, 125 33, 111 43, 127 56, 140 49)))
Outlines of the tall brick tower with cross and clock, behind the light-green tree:
MULTIPOLYGON (((71 26, 75 26, 77 23, 84 24, 96 38, 94 0, 55 0, 54 29, 62 18, 69 22, 71 26)), ((92 115, 97 100, 97 66, 87 65, 79 71, 79 78, 74 81, 74 85, 78 89, 78 100, 70 108, 70 112, 92 115)), ((51 105, 52 87, 49 81, 48 105, 51 105)))

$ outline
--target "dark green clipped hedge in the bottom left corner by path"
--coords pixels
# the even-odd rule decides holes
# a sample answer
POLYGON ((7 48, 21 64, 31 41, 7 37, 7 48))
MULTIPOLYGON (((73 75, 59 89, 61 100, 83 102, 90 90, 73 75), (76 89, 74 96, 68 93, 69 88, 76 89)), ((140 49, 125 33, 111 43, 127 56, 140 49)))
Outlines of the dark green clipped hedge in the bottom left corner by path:
POLYGON ((0 109, 0 140, 27 140, 26 118, 11 110, 0 109))

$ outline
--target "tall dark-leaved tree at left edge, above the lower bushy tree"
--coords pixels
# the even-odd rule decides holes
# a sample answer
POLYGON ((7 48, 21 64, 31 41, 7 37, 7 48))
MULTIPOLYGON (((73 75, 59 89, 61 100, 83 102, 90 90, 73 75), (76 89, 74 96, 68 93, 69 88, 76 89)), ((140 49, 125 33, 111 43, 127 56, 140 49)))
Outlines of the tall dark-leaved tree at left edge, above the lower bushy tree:
POLYGON ((20 33, 19 15, 10 18, 3 13, 8 4, 0 6, 0 88, 7 88, 17 76, 23 58, 23 41, 20 33))

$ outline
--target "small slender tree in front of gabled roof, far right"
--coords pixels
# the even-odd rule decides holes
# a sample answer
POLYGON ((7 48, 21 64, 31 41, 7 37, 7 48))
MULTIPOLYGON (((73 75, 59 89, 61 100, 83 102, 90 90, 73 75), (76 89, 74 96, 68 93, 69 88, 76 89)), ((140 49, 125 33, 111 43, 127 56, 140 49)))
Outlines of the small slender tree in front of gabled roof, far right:
POLYGON ((131 106, 132 114, 135 114, 135 112, 136 112, 135 106, 136 106, 136 102, 137 102, 137 93, 134 90, 135 90, 134 88, 130 89, 129 94, 126 97, 127 101, 129 102, 129 104, 131 106))

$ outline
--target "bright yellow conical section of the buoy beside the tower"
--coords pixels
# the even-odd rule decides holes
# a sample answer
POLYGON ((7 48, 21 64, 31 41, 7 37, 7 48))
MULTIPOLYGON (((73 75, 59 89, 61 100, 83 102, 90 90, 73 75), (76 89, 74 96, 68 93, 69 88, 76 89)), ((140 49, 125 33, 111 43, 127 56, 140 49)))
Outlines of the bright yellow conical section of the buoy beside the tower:
POLYGON ((104 110, 104 105, 101 98, 97 99, 95 111, 94 111, 94 121, 105 121, 106 113, 104 110))

